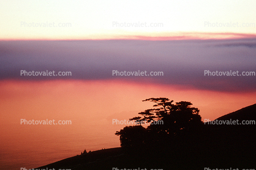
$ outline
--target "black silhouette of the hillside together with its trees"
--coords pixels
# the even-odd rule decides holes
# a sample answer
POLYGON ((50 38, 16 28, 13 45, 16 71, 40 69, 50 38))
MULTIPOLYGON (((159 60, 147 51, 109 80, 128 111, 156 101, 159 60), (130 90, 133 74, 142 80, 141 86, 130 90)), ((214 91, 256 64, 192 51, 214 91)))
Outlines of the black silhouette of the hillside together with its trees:
MULTIPOLYGON (((121 147, 88 152, 40 168, 55 169, 255 169, 256 125, 214 125, 201 122, 190 102, 151 98, 154 108, 124 127, 121 147), (142 120, 164 124, 143 127, 142 120)), ((218 120, 254 120, 256 104, 221 116, 218 120)))

